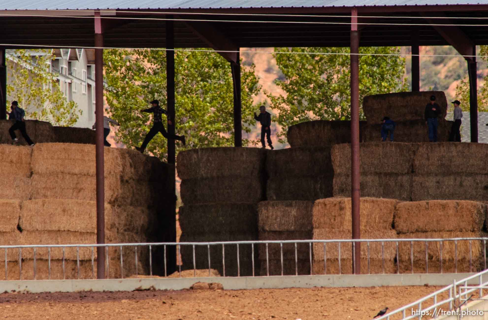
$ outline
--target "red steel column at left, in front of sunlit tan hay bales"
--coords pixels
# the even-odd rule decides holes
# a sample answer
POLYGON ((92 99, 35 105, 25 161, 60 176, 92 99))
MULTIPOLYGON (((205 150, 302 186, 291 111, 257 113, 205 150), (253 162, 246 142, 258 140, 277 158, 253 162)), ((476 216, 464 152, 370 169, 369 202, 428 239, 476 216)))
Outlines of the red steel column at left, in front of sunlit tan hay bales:
MULTIPOLYGON (((95 12, 95 162, 97 176, 97 244, 105 243, 105 189, 103 170, 103 35, 100 11, 95 12)), ((108 270, 107 270, 108 271, 108 270)), ((97 247, 97 279, 105 279, 105 250, 97 247)))

